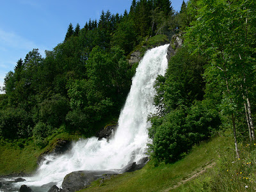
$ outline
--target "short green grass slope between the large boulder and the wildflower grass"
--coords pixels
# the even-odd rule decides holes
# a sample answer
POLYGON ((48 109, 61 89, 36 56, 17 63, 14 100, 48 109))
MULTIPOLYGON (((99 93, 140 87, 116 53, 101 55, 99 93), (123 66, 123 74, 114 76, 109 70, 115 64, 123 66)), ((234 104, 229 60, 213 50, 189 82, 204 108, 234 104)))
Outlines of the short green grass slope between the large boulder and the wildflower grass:
POLYGON ((155 167, 150 161, 142 170, 117 175, 100 180, 82 191, 172 191, 180 181, 186 180, 195 173, 217 161, 220 151, 227 150, 232 143, 232 137, 218 136, 207 143, 193 147, 188 156, 173 164, 160 164, 155 167))

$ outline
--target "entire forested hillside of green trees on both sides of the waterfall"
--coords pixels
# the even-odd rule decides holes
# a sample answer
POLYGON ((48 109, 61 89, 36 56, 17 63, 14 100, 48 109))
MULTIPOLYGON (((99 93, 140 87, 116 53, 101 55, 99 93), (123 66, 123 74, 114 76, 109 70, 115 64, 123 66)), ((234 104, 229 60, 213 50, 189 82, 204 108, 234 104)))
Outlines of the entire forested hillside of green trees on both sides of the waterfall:
MULTIPOLYGON (((67 24, 68 25, 68 24, 67 24)), ((17 61, 0 95, 0 137, 33 138, 39 147, 54 132, 92 136, 115 122, 131 86, 132 51, 179 36, 165 76, 156 81, 157 113, 148 119, 156 164, 184 157, 225 130, 237 143, 255 141, 256 3, 190 0, 175 13, 168 0, 133 0, 124 13, 102 11, 42 58, 38 49, 17 61), (150 42, 150 44, 148 43, 150 42)), ((171 42, 173 45, 173 42, 171 42)))

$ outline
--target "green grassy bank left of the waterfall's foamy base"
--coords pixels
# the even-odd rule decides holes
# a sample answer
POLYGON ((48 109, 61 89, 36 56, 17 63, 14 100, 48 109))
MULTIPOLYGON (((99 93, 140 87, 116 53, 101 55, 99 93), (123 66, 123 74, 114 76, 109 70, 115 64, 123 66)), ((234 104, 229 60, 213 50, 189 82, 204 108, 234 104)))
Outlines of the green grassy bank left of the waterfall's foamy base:
POLYGON ((27 140, 0 140, 0 176, 10 174, 31 174, 35 172, 40 154, 51 152, 58 140, 77 140, 78 135, 70 135, 65 132, 53 134, 47 138, 49 144, 45 148, 35 145, 32 138, 27 140))

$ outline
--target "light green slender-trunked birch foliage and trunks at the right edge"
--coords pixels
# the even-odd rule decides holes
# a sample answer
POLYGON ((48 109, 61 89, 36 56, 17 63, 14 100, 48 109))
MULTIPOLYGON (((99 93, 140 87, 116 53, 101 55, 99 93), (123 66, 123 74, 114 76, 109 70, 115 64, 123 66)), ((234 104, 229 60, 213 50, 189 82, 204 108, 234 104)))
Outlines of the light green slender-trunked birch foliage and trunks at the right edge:
MULTIPOLYGON (((237 111, 244 108, 251 140, 255 140, 250 93, 255 61, 255 3, 252 1, 191 1, 196 20, 188 28, 186 43, 191 51, 205 54, 211 61, 205 70, 208 83, 216 83, 223 93, 223 114, 230 116, 236 154, 237 111), (225 100, 225 102, 224 102, 225 100)), ((191 6, 190 6, 191 8, 191 6)))

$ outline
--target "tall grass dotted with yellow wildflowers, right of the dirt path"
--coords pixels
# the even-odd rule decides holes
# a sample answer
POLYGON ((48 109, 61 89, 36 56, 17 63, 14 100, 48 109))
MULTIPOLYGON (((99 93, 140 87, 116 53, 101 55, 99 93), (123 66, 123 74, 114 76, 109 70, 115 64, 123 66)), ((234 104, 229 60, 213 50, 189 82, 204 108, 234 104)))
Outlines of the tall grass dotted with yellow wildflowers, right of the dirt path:
POLYGON ((239 150, 240 159, 232 148, 220 150, 216 166, 175 191, 256 191, 256 143, 240 143, 239 150))

